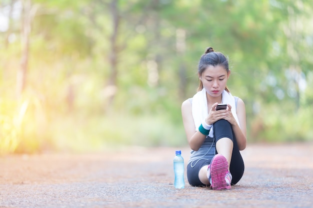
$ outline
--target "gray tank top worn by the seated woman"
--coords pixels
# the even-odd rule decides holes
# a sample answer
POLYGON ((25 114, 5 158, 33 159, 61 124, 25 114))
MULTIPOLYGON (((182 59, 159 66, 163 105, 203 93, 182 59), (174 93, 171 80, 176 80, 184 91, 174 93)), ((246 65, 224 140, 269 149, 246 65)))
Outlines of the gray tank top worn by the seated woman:
MULTIPOLYGON (((238 97, 235 97, 235 106, 237 107, 238 97)), ((192 98, 188 99, 192 105, 192 98)), ((191 151, 190 152, 190 158, 188 161, 188 164, 191 163, 191 168, 195 166, 196 163, 198 163, 201 160, 211 160, 215 155, 215 142, 214 138, 211 138, 209 136, 206 136, 203 144, 198 149, 198 151, 191 151)))

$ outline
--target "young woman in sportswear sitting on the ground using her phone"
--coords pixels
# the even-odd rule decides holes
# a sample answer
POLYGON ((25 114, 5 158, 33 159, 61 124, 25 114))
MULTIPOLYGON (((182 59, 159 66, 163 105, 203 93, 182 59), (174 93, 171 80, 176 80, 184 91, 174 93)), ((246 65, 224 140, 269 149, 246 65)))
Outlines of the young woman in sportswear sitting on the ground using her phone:
POLYGON ((181 105, 183 126, 191 148, 187 178, 191 186, 230 189, 242 177, 239 150, 246 146, 245 106, 226 83, 227 58, 209 47, 198 64, 198 92, 181 105), (216 110, 219 103, 226 109, 216 110))

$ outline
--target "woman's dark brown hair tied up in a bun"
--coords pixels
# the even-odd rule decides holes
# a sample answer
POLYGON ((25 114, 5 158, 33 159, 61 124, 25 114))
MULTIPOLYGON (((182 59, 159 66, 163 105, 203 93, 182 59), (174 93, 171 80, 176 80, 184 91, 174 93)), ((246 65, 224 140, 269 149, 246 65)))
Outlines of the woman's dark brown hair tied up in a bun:
MULTIPOLYGON (((199 64, 198 64, 198 74, 202 75, 202 72, 208 67, 208 66, 217 66, 221 65, 224 67, 226 72, 228 73, 229 67, 228 67, 228 59, 220 52, 215 52, 213 48, 208 47, 204 51, 204 54, 201 56, 199 64)), ((203 84, 200 80, 198 91, 201 91, 203 89, 203 84)), ((227 86, 225 87, 225 90, 229 92, 227 86)))

